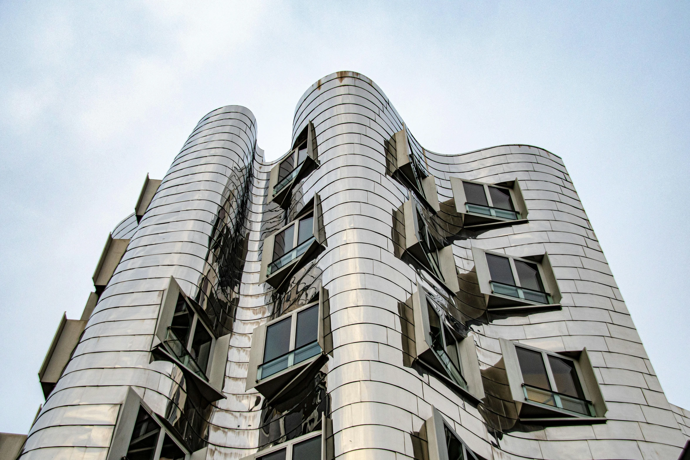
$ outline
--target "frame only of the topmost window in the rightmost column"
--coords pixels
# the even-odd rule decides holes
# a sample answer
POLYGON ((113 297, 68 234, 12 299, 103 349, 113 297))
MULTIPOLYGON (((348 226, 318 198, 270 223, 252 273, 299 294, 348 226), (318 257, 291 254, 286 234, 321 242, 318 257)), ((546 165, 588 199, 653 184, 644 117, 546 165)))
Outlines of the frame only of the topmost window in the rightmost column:
POLYGON ((455 199, 455 211, 460 214, 463 219, 464 228, 468 230, 482 230, 487 228, 495 228, 502 226, 514 226, 521 223, 526 223, 528 221, 527 216, 529 210, 522 197, 522 189, 520 188, 520 182, 516 179, 511 181, 499 182, 499 183, 486 183, 480 181, 473 181, 469 179, 460 179, 460 177, 451 177, 451 189, 453 191, 453 199, 455 199), (489 203, 489 208, 494 208, 493 200, 491 199, 491 193, 489 193, 489 187, 504 188, 509 190, 511 201, 513 202, 513 208, 517 213, 517 219, 506 219, 504 217, 498 217, 494 215, 481 214, 479 212, 470 212, 467 210, 466 205, 467 199, 464 190, 463 183, 476 183, 484 187, 484 194, 486 196, 486 202, 489 203))

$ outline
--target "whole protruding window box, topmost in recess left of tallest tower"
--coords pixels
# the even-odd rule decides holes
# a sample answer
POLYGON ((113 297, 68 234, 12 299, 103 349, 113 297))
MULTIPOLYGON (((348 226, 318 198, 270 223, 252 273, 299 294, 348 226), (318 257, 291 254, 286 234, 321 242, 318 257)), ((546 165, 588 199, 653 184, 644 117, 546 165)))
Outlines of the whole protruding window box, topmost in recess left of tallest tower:
POLYGON ((284 209, 290 205, 293 186, 319 167, 316 133, 311 121, 299 134, 295 146, 285 159, 270 170, 268 201, 275 201, 284 209))

